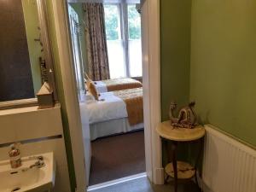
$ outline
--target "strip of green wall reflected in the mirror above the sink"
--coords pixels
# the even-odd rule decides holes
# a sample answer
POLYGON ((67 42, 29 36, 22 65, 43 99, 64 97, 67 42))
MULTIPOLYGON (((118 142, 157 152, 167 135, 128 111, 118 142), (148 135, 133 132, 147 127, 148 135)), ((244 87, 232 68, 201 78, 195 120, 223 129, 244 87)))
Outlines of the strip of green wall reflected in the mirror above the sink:
POLYGON ((26 39, 32 69, 33 87, 35 94, 37 94, 42 86, 39 57, 44 59, 44 53, 41 52, 42 46, 39 42, 34 41, 40 35, 38 29, 38 7, 35 0, 22 0, 21 2, 26 26, 26 39))

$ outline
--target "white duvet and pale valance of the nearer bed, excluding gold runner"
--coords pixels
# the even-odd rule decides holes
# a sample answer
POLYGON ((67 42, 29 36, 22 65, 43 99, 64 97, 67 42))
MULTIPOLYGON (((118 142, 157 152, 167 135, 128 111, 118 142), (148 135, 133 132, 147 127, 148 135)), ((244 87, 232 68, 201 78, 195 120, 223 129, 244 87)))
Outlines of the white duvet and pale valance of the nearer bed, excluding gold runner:
POLYGON ((103 102, 96 102, 90 95, 83 98, 84 102, 80 103, 80 110, 86 113, 83 113, 81 118, 82 121, 86 118, 83 115, 89 118, 90 140, 136 131, 144 127, 143 123, 132 126, 129 124, 125 102, 114 96, 113 92, 102 93, 100 99, 104 99, 103 102))

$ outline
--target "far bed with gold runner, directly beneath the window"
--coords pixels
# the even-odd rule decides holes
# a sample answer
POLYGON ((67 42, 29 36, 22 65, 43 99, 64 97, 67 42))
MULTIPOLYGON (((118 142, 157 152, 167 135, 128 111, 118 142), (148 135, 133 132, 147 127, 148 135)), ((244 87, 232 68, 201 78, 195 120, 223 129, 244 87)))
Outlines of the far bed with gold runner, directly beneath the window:
POLYGON ((98 93, 114 91, 114 90, 127 90, 142 87, 143 84, 136 79, 107 79, 102 81, 94 81, 98 93))

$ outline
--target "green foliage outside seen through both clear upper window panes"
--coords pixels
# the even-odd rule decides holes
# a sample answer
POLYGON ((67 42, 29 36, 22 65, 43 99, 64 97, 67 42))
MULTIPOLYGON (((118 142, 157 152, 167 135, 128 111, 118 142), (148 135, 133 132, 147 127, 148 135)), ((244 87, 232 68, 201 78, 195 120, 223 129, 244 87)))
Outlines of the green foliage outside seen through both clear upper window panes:
MULTIPOLYGON (((104 5, 107 40, 118 40, 119 9, 116 5, 104 5)), ((127 6, 129 39, 141 38, 141 17, 134 4, 127 6)))

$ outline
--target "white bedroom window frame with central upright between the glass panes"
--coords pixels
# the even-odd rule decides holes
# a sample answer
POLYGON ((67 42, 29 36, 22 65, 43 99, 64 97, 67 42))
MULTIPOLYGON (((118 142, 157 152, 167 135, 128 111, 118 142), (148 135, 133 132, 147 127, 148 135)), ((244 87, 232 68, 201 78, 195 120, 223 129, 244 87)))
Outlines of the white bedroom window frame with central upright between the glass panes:
MULTIPOLYGON (((103 3, 103 5, 116 5, 119 7, 119 21, 120 21, 120 32, 121 40, 123 43, 124 50, 124 62, 125 62, 125 76, 129 78, 141 78, 131 77, 130 73, 130 59, 129 59, 129 22, 128 22, 128 5, 133 5, 136 3, 103 3)), ((108 41, 108 40, 107 40, 108 41)))

